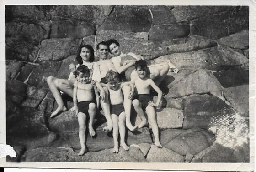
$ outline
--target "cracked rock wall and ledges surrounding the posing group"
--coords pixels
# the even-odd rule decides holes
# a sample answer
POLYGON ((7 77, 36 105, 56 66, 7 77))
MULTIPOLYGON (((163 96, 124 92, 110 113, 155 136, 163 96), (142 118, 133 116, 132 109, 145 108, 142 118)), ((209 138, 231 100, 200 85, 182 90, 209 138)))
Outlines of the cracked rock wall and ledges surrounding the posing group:
MULTIPOLYGON (((18 154, 8 161, 249 162, 248 6, 5 5, 5 22, 6 143, 18 154), (91 45, 98 61, 96 45, 109 39, 167 73, 155 110, 162 149, 149 125, 127 130, 129 151, 112 153, 112 132, 97 112, 89 152, 77 156, 75 112, 49 117, 59 98, 68 109, 74 104, 54 97, 47 77, 67 79, 81 45, 91 45), (169 61, 178 73, 163 70, 169 61)), ((137 125, 133 107, 131 116, 137 125)))

